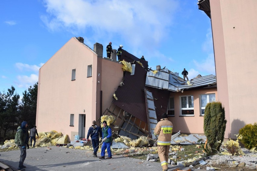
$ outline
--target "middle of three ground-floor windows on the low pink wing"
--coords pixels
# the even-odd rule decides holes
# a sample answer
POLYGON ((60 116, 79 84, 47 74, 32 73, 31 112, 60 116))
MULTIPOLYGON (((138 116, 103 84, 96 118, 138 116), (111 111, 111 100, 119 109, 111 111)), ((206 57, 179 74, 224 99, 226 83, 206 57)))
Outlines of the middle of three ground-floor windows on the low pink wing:
POLYGON ((194 116, 194 96, 180 96, 180 116, 194 116))

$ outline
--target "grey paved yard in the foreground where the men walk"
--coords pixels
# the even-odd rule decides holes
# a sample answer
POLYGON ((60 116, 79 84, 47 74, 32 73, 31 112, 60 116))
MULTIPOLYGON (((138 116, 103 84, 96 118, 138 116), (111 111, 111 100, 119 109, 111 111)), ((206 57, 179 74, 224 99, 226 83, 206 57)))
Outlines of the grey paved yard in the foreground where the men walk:
MULTIPOLYGON (((16 171, 20 160, 20 150, 6 151, 0 154, 0 162, 16 171)), ((98 153, 97 156, 100 156, 100 153, 98 153)), ((106 157, 108 157, 107 153, 106 157)), ((98 159, 98 157, 93 157, 93 152, 90 150, 56 146, 27 149, 27 157, 24 161, 24 166, 26 166, 26 170, 30 171, 162 171, 160 163, 157 162, 123 157, 120 155, 113 155, 112 159, 98 159)), ((168 165, 168 167, 168 170, 172 171, 178 166, 168 165)), ((180 167, 180 169, 183 168, 186 170, 186 167, 180 167)), ((202 169, 192 170, 201 171, 202 169)))

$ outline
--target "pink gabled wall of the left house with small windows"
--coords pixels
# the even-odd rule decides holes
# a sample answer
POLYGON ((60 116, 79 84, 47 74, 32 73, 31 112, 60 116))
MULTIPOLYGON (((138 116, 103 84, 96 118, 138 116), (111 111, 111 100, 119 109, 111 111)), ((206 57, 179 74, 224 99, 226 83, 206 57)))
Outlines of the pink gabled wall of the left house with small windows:
POLYGON ((83 137, 86 137, 92 120, 100 117, 100 91, 105 95, 105 109, 111 104, 112 94, 122 79, 121 67, 121 64, 97 56, 92 49, 71 38, 40 68, 36 114, 38 131, 56 130, 73 140, 74 134, 78 134, 79 114, 85 114, 83 137), (92 77, 87 77, 88 65, 92 65, 92 77), (71 81, 73 69, 76 69, 76 79, 71 81), (111 81, 103 84, 106 80, 111 81), (69 126, 70 114, 74 114, 74 126, 69 126))

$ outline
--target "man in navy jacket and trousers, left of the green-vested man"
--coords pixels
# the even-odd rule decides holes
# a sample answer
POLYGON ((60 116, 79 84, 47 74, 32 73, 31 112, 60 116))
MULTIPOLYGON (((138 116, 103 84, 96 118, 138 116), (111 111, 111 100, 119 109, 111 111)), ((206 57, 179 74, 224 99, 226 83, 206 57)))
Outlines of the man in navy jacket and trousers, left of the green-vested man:
POLYGON ((87 140, 89 138, 89 135, 91 137, 91 142, 92 142, 92 146, 94 149, 94 157, 97 157, 97 151, 99 148, 99 135, 102 136, 102 129, 100 126, 97 126, 96 121, 93 120, 92 122, 92 126, 90 126, 90 128, 88 129, 87 132, 87 140))

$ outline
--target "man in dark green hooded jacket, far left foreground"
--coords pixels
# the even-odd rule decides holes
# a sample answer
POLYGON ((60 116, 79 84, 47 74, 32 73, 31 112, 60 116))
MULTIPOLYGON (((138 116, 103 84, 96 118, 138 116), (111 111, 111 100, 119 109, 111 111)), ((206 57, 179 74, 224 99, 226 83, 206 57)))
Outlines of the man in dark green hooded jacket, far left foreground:
POLYGON ((29 132, 27 130, 28 123, 26 121, 23 121, 21 123, 21 126, 17 128, 17 133, 15 135, 15 140, 14 142, 19 146, 20 151, 21 151, 21 156, 20 156, 20 162, 19 162, 19 170, 25 170, 26 166, 23 165, 24 160, 26 158, 26 147, 29 149, 29 132))

